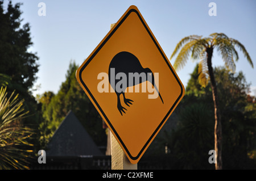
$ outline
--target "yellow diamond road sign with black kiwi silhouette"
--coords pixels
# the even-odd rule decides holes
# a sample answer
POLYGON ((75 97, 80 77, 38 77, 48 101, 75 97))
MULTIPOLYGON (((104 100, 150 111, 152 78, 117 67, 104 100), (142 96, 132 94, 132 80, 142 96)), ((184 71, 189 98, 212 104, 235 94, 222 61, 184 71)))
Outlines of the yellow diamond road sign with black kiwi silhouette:
POLYGON ((137 163, 184 96, 184 86, 136 6, 76 72, 77 81, 137 163))

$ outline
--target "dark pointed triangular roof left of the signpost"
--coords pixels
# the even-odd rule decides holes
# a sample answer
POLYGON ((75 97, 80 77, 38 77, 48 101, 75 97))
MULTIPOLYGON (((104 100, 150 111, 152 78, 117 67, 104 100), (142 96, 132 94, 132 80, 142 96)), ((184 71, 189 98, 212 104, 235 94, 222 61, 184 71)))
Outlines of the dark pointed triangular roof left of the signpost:
POLYGON ((69 157, 102 155, 72 111, 69 111, 55 131, 46 150, 47 156, 69 157))

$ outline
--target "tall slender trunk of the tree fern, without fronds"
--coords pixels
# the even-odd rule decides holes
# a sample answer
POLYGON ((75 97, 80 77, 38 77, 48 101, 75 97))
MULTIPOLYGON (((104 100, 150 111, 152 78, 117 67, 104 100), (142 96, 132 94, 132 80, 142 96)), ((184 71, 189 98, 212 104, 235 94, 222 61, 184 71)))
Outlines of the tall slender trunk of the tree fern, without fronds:
POLYGON ((212 87, 212 98, 214 103, 214 118, 215 118, 215 126, 214 126, 214 150, 216 151, 216 163, 215 169, 222 169, 222 132, 221 132, 221 116, 220 109, 218 106, 218 94, 217 94, 217 86, 214 78, 213 68, 212 68, 212 53, 213 48, 210 47, 207 49, 207 65, 210 77, 210 83, 212 87))

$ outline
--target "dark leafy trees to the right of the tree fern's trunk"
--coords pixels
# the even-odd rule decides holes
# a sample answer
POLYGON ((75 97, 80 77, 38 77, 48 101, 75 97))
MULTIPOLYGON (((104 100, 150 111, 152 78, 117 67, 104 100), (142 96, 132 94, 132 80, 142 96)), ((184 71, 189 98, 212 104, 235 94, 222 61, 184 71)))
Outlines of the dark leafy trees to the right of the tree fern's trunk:
POLYGON ((250 84, 242 72, 228 73, 226 69, 216 71, 216 81, 221 92, 223 166, 232 169, 255 169, 247 153, 255 150, 256 119, 253 111, 247 110, 250 84))

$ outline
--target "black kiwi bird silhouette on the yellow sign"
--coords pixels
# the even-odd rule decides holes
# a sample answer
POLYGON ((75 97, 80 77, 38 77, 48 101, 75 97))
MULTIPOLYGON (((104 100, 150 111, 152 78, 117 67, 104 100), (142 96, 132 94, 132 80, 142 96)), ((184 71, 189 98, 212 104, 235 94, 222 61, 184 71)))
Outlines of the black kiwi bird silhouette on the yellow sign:
MULTIPOLYGON (((162 96, 159 93, 158 87, 155 86, 155 80, 154 80, 154 75, 152 73, 152 71, 149 68, 143 68, 141 65, 141 62, 139 62, 138 58, 136 56, 134 56, 134 54, 129 53, 129 52, 119 52, 117 53, 112 61, 109 64, 109 83, 112 86, 112 88, 115 90, 115 94, 117 94, 117 108, 118 111, 121 113, 122 112, 125 113, 126 108, 122 107, 121 102, 120 102, 120 95, 123 94, 123 102, 130 107, 129 104, 133 104, 133 100, 131 99, 126 99, 125 98, 125 89, 127 87, 130 86, 135 86, 138 85, 139 83, 142 83, 142 77, 139 78, 139 81, 135 82, 135 77, 133 80, 133 85, 129 85, 129 73, 145 73, 146 74, 146 80, 151 82, 151 84, 154 86, 155 90, 158 92, 160 99, 162 100, 163 103, 163 99, 162 96), (114 74, 110 73, 110 70, 114 68, 114 74), (115 80, 115 75, 117 75, 118 73, 125 73, 126 74, 126 78, 127 78, 127 83, 126 85, 122 84, 123 87, 120 87, 121 90, 117 91, 117 89, 115 89, 116 86, 116 81, 110 81, 112 79, 115 80), (114 78, 112 78, 111 76, 114 75, 114 78)), ((127 110, 126 110, 127 111, 127 110)))

